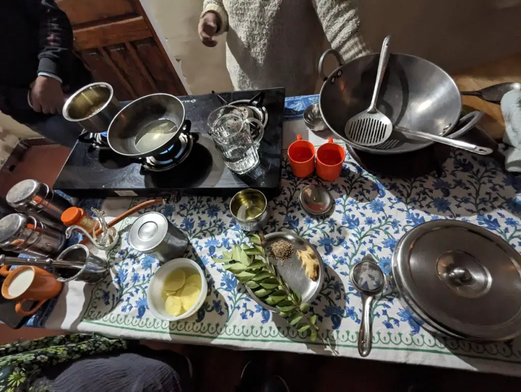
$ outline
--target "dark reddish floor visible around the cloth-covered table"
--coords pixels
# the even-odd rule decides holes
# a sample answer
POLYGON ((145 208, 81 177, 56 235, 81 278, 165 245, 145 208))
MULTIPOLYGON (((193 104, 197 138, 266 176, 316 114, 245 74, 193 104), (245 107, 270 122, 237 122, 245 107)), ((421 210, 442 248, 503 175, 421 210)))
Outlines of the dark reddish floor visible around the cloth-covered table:
MULTIPOLYGON (((31 147, 23 160, 0 179, 0 194, 16 182, 33 178, 54 184, 69 149, 56 145, 31 147), (8 185, 10 184, 10 185, 8 185)), ((0 345, 16 339, 60 334, 42 328, 11 330, 0 324, 0 345)), ((195 390, 230 392, 242 368, 252 356, 262 356, 266 371, 286 378, 294 391, 517 391, 521 378, 452 369, 393 364, 362 359, 299 355, 288 352, 233 351, 217 347, 142 342, 154 349, 170 349, 190 357, 195 371, 195 390), (409 389, 415 386, 416 389, 409 389)), ((520 374, 521 376, 521 374, 520 374)))

